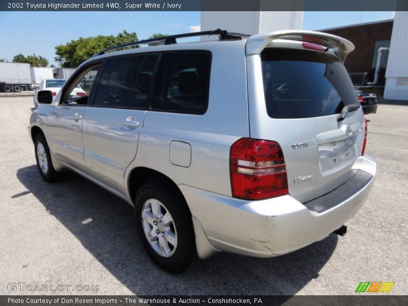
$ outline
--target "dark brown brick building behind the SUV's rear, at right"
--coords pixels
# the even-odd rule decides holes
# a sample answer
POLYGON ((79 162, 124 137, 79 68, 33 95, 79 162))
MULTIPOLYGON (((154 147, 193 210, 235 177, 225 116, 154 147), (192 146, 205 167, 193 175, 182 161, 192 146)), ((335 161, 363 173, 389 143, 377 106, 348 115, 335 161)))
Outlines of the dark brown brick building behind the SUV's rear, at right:
MULTIPOLYGON (((366 82, 374 80, 375 66, 377 64, 377 55, 379 47, 389 47, 391 41, 392 27, 394 20, 375 21, 360 23, 356 25, 347 25, 346 27, 331 28, 320 30, 333 35, 344 37, 355 45, 344 62, 347 71, 350 74, 356 72, 367 72, 366 82)), ((388 50, 382 53, 381 66, 378 83, 376 85, 385 85, 385 70, 387 66, 388 50)), ((359 78, 352 77, 353 83, 359 83, 359 78)))

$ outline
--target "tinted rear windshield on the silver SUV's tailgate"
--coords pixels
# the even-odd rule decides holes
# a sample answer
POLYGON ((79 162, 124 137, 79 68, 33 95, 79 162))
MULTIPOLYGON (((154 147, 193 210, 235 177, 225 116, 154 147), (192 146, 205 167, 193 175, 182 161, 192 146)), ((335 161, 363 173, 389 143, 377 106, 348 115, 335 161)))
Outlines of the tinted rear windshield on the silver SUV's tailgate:
POLYGON ((359 103, 346 69, 334 56, 266 48, 261 59, 266 110, 271 118, 328 116, 359 103))

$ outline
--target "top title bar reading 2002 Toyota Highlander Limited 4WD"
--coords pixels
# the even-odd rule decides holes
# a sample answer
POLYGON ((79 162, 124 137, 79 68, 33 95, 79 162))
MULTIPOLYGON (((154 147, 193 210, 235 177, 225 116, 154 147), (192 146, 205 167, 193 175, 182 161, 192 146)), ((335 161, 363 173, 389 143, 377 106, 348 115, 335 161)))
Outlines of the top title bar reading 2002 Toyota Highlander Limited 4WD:
POLYGON ((408 11, 408 0, 2 0, 0 11, 408 11))

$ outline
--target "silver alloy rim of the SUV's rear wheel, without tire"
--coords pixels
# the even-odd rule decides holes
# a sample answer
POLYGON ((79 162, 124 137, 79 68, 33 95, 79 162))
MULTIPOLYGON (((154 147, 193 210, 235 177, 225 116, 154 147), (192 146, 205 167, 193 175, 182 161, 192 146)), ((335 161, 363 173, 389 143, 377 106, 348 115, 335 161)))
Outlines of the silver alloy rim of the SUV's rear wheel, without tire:
POLYGON ((163 203, 148 199, 142 209, 142 225, 150 246, 163 257, 170 257, 177 247, 173 217, 163 203))

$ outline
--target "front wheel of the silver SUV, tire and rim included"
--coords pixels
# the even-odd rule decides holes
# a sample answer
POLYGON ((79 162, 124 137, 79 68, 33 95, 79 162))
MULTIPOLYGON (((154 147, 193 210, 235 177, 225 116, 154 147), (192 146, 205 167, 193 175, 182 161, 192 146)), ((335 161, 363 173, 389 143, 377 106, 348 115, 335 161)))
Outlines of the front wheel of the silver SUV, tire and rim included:
POLYGON ((35 159, 37 161, 38 171, 44 181, 52 183, 60 179, 60 173, 54 169, 53 161, 45 136, 39 133, 34 140, 35 159))

